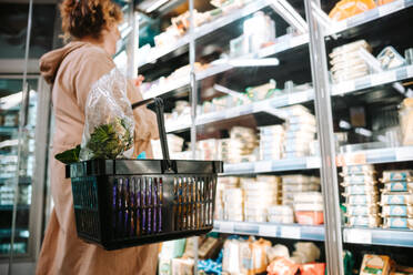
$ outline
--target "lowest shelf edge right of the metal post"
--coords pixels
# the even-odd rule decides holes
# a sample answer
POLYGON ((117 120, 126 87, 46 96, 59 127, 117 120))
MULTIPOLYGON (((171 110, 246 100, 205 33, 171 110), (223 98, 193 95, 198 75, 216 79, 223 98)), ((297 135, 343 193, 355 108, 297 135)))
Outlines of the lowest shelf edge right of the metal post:
POLYGON ((413 231, 344 228, 344 243, 413 247, 413 231))

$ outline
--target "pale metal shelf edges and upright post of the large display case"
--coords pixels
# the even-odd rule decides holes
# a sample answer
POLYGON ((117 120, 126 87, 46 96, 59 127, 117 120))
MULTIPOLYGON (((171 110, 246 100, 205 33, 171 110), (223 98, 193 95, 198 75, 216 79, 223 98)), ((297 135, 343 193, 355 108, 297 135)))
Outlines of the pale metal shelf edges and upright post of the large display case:
MULTIPOLYGON (((311 70, 310 65, 304 65, 301 72, 302 74, 309 73, 309 80, 312 80, 313 88, 305 91, 280 93, 268 100, 233 106, 216 112, 200 114, 198 111, 194 111, 191 121, 173 121, 169 125, 167 123, 167 131, 179 134, 191 131, 190 141, 191 144, 194 144, 197 141, 197 133, 204 134, 209 132, 205 129, 211 125, 223 124, 223 128, 228 128, 232 125, 234 121, 251 119, 258 113, 265 113, 283 121, 289 114, 282 112, 281 108, 293 104, 305 104, 306 106, 310 106, 310 109, 314 108, 319 123, 318 136, 319 140, 321 140, 321 156, 313 155, 272 161, 225 163, 224 173, 221 174, 221 176, 251 176, 261 173, 284 174, 294 172, 311 174, 316 173, 316 171, 320 170, 324 196, 325 225, 304 226, 299 224, 214 221, 214 232, 324 242, 329 274, 343 274, 341 261, 343 245, 371 244, 413 247, 413 231, 343 227, 341 224, 341 211, 339 207, 340 200, 338 171, 340 171, 340 166, 344 164, 354 165, 413 162, 413 146, 399 145, 374 150, 362 150, 352 153, 336 153, 334 149, 332 120, 335 114, 332 114, 331 112, 331 104, 338 99, 359 96, 359 94, 369 93, 374 89, 394 89, 395 83, 413 79, 413 65, 404 65, 389 71, 370 73, 369 75, 362 78, 333 84, 330 82, 328 72, 325 44, 328 41, 333 41, 333 44, 340 44, 339 42, 341 38, 350 40, 347 35, 349 33, 353 37, 362 35, 360 34, 360 31, 363 30, 365 26, 379 22, 380 20, 386 20, 387 17, 397 17, 399 12, 411 11, 413 1, 395 0, 391 3, 380 6, 346 20, 332 23, 329 27, 321 24, 318 19, 313 17, 314 8, 312 8, 312 6, 314 6, 314 3, 315 6, 319 6, 316 2, 313 2, 312 0, 304 0, 302 6, 304 6, 304 3, 305 19, 309 23, 310 30, 309 33, 282 33, 281 35, 276 37, 273 44, 260 49, 254 53, 249 53, 236 59, 220 59, 211 63, 208 69, 202 71, 194 71, 192 68, 192 78, 188 75, 188 79, 184 78, 165 89, 160 89, 153 93, 144 94, 144 96, 163 96, 168 94, 168 96, 173 98, 174 91, 189 90, 188 96, 190 101, 195 102, 197 105, 199 98, 202 99, 202 84, 204 82, 214 81, 214 79, 218 79, 222 75, 232 77, 236 74, 242 74, 240 79, 243 79, 244 81, 245 75, 249 75, 248 70, 253 70, 255 67, 258 67, 260 60, 280 58, 281 69, 279 70, 283 70, 290 65, 288 61, 295 53, 299 52, 302 54, 300 58, 310 55, 312 58, 312 60, 309 61, 309 64, 312 65, 311 73, 309 73, 311 70), (310 48, 309 51, 306 51, 308 48, 310 48), (318 59, 314 60, 314 57, 318 59), (240 60, 248 60, 249 64, 242 67, 234 65, 236 61, 240 60), (330 94, 330 96, 325 95, 325 93, 330 94), (336 165, 334 164, 334 161, 329 162, 328 160, 335 160, 336 165)), ((215 33, 222 33, 222 29, 232 28, 231 26, 233 26, 234 22, 241 21, 244 17, 248 17, 255 11, 266 9, 272 4, 273 1, 253 1, 239 10, 234 10, 232 13, 216 19, 215 21, 194 28, 188 34, 182 37, 177 43, 164 48, 162 51, 158 52, 157 55, 139 62, 137 67, 141 69, 149 63, 153 64, 158 59, 162 59, 162 62, 165 62, 169 55, 171 55, 171 53, 174 51, 189 51, 189 60, 193 65, 193 62, 198 60, 195 50, 198 50, 199 45, 202 45, 205 37, 208 37, 208 41, 211 41, 213 40, 215 33), (187 48, 189 49, 187 50, 187 48)), ((302 8, 301 14, 303 16, 304 7, 302 8)), ((276 73, 278 72, 279 71, 276 71, 276 73)), ((251 77, 251 79, 253 78, 251 77)), ((229 82, 234 80, 236 80, 235 77, 232 79, 229 78, 229 82)), ((394 90, 394 93, 402 94, 400 90, 397 91, 397 88, 394 90)), ((195 154, 194 147, 193 154, 195 154)))

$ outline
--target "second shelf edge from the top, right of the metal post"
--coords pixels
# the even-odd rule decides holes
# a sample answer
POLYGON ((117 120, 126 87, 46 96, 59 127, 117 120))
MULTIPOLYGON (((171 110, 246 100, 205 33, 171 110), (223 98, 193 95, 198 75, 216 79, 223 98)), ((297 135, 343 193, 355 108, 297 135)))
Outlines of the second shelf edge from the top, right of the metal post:
POLYGON ((373 73, 355 80, 344 81, 332 85, 332 95, 343 95, 357 90, 390 84, 413 78, 413 65, 401 67, 394 70, 373 73))

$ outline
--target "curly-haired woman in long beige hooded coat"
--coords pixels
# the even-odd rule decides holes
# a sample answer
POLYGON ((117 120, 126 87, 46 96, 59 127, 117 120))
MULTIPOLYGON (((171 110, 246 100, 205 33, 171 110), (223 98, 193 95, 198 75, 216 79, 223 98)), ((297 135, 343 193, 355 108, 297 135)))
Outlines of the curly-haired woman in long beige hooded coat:
MULTIPOLYGON (((81 143, 84 104, 91 85, 113 68, 112 55, 120 39, 122 13, 111 0, 64 0, 60 8, 62 29, 72 42, 44 54, 40 70, 53 84, 56 116, 51 162, 51 193, 54 202, 37 266, 37 274, 154 274, 157 245, 108 252, 78 238, 70 180, 57 153, 81 143)), ((142 100, 128 83, 131 102, 142 100)), ((150 139, 158 138, 155 115, 145 108, 133 111, 134 155, 145 151, 151 157, 150 139)))

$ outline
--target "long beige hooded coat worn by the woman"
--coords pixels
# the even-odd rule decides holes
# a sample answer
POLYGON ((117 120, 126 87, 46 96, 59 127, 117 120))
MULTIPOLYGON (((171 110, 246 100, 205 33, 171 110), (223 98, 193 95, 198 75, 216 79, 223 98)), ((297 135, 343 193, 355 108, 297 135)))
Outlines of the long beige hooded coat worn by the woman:
MULTIPOLYGON (((108 252, 78 238, 70 180, 57 153, 81 143, 84 104, 91 85, 114 68, 101 48, 85 42, 71 42, 41 58, 40 70, 53 83, 53 149, 50 155, 51 194, 54 202, 36 273, 50 275, 154 274, 158 246, 148 245, 108 252)), ((142 100, 128 83, 130 101, 142 100)), ((155 115, 148 109, 133 111, 135 119, 135 155, 142 151, 152 156, 150 139, 158 138, 155 115)))

